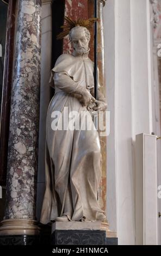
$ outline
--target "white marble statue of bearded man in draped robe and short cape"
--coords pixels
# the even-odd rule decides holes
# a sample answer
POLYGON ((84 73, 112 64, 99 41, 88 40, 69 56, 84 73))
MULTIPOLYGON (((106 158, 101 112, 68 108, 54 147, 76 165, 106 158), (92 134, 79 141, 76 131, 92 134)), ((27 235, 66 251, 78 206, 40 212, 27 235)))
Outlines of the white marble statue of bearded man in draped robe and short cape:
POLYGON ((69 37, 74 51, 58 58, 51 75, 55 94, 46 119, 46 191, 40 220, 44 224, 106 218, 97 199, 101 147, 91 109, 104 111, 107 104, 100 92, 98 100, 94 99, 94 63, 88 57, 90 32, 77 26, 69 37), (52 113, 59 111, 61 120, 69 119, 66 108, 69 116, 77 113, 80 129, 52 129, 52 113), (86 120, 91 129, 83 129, 86 120))

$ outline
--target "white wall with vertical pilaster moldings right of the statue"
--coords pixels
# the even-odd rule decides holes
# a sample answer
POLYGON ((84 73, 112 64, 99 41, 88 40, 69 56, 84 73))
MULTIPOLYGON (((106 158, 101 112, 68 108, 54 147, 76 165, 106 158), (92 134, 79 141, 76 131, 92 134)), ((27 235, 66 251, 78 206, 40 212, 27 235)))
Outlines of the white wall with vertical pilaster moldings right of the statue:
POLYGON ((108 0, 104 8, 112 131, 107 207, 110 229, 117 229, 120 245, 135 244, 135 135, 152 132, 149 4, 149 0, 108 0))

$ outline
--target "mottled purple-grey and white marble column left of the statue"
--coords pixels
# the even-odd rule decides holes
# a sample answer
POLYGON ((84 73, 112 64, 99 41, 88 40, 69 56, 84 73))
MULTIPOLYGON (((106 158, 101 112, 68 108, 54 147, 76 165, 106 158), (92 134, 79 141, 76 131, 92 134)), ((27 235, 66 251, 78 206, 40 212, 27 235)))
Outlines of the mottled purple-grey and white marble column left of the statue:
POLYGON ((35 198, 38 163, 41 0, 20 0, 17 9, 7 199, 0 235, 38 235, 35 198))

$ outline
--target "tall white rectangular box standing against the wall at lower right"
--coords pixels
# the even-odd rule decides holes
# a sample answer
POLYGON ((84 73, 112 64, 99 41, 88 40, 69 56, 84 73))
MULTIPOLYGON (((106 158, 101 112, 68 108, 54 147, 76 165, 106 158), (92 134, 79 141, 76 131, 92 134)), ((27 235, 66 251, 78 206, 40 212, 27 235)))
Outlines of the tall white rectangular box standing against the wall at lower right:
POLYGON ((136 136, 136 245, 158 244, 157 136, 136 136))

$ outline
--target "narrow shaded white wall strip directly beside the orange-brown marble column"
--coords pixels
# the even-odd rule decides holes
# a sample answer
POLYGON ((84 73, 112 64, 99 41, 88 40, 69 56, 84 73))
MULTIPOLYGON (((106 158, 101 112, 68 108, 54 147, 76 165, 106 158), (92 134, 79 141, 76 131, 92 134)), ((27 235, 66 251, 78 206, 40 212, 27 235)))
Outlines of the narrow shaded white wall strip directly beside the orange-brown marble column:
POLYGON ((115 176, 115 1, 104 7, 104 41, 106 59, 107 101, 110 111, 110 136, 107 137, 107 216, 110 229, 116 224, 116 176, 115 176))

